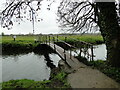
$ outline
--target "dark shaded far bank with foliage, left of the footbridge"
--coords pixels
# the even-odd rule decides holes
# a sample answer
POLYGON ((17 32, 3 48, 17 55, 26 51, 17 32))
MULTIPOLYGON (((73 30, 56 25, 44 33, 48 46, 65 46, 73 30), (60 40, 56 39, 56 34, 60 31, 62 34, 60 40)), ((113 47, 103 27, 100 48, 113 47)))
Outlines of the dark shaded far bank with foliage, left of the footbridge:
POLYGON ((34 43, 28 42, 3 42, 2 43, 2 54, 17 54, 17 53, 24 53, 30 52, 35 47, 34 43))

